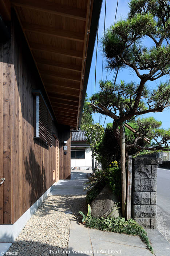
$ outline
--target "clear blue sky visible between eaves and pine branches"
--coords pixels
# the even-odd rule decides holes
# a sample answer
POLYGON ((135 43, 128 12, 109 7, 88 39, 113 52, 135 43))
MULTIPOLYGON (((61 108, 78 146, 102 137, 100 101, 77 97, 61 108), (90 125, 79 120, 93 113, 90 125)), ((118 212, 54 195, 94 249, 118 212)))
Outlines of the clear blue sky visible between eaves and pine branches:
MULTIPOLYGON (((129 0, 119 0, 116 20, 118 20, 119 18, 127 17, 127 14, 129 12, 128 2, 129 0)), ((112 24, 114 24, 116 5, 117 5, 117 0, 107 0, 105 29, 109 28, 112 24)), ((102 37, 103 31, 104 31, 104 11, 105 11, 105 0, 103 0, 102 10, 101 10, 100 19, 99 19, 99 35, 98 35, 99 39, 102 37)), ((96 37, 96 42, 97 42, 97 37, 96 37)), ((90 75, 88 79, 88 86, 87 86, 88 98, 94 93, 94 88, 95 88, 96 42, 95 42, 95 48, 94 48, 94 53, 92 57, 90 75)), ((151 41, 149 39, 146 39, 145 45, 150 46, 151 41)), ((97 67, 96 67, 96 92, 100 90, 98 81, 102 78, 102 53, 103 53, 102 45, 98 41, 97 67)), ((107 69, 104 67, 106 67, 106 60, 104 60, 104 63, 103 63, 103 80, 106 79, 106 73, 107 73, 107 69)), ((116 82, 119 83, 120 80, 125 80, 126 82, 130 82, 132 80, 135 82, 139 82, 137 75, 131 71, 132 69, 128 69, 128 68, 120 71, 118 73, 116 82)), ((112 80, 113 74, 114 72, 111 72, 110 75, 107 75, 107 79, 112 80)), ((161 81, 165 82, 167 81, 167 79, 168 79, 167 76, 163 76, 161 78, 161 81)), ((153 87, 156 87, 157 84, 159 84, 159 82, 160 82, 160 79, 157 79, 154 82, 147 82, 147 85, 149 88, 153 88, 153 87)), ((149 117, 149 116, 153 116, 155 119, 162 121, 163 128, 167 129, 170 127, 170 109, 165 109, 162 113, 145 114, 145 115, 142 115, 141 117, 149 117)), ((94 117, 94 114, 93 114, 93 117, 94 117)), ((100 124, 103 125, 105 116, 101 117, 99 114, 95 114, 95 118, 94 118, 95 123, 99 122, 99 119, 100 119, 100 124)), ((112 118, 107 116, 104 127, 106 127, 107 123, 110 123, 110 122, 112 123, 112 121, 113 121, 112 118)))

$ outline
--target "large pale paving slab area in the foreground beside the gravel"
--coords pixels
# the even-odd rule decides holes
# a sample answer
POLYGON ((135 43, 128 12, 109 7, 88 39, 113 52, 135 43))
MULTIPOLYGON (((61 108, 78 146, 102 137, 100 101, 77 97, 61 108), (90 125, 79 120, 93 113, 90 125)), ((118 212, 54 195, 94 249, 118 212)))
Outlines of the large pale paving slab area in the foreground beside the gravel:
POLYGON ((76 221, 71 221, 68 250, 70 255, 80 251, 76 255, 83 256, 91 256, 92 253, 94 256, 152 256, 139 237, 88 229, 76 221))

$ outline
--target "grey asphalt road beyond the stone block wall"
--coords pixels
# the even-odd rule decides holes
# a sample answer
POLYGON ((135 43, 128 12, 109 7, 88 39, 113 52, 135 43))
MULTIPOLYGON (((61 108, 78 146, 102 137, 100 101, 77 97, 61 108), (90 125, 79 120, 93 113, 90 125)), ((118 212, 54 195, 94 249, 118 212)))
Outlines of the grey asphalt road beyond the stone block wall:
POLYGON ((161 208, 166 226, 170 229, 170 170, 158 168, 157 205, 161 208))

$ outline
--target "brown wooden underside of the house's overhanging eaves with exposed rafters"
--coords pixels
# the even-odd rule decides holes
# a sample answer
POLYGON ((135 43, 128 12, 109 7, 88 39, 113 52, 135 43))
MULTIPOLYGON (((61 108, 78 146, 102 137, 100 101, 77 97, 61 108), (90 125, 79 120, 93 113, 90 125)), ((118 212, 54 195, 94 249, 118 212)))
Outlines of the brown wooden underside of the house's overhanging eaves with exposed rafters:
MULTIPOLYGON (((16 11, 59 124, 78 129, 102 0, 0 0, 16 11)), ((4 16, 5 16, 4 15, 4 16)))

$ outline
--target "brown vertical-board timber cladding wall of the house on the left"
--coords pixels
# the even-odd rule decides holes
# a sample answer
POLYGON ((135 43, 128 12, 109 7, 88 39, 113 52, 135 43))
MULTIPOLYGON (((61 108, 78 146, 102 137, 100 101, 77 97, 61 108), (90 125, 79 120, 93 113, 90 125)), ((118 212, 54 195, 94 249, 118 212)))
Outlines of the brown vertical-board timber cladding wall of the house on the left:
MULTIPOLYGON (((40 89, 50 108, 17 18, 11 39, 0 44, 0 224, 13 224, 53 184, 55 138, 52 147, 33 138, 32 89, 40 89)), ((52 112, 52 109, 51 109, 52 112)), ((53 122, 60 141, 60 178, 70 178, 70 127, 53 122), (63 142, 67 140, 67 155, 63 142)), ((65 145, 64 145, 65 146, 65 145)))

